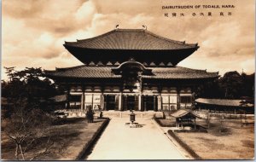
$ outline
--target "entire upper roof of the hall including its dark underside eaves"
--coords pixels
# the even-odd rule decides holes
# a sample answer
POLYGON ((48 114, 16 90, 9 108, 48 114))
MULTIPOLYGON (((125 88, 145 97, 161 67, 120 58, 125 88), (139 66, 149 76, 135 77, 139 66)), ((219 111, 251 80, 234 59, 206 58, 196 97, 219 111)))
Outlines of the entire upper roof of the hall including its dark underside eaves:
POLYGON ((139 62, 168 61, 175 66, 199 48, 197 43, 163 38, 143 29, 115 29, 63 45, 84 64, 101 61, 103 65, 107 65, 108 61, 122 63, 132 57, 139 62))

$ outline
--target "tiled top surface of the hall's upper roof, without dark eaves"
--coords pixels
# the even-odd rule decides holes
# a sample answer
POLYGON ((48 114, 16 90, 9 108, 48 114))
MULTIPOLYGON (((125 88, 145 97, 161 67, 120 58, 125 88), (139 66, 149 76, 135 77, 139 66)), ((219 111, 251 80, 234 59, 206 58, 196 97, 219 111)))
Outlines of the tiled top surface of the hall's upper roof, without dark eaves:
POLYGON ((197 49, 197 43, 185 43, 160 37, 143 29, 115 29, 95 38, 65 42, 64 46, 85 49, 170 50, 197 49))

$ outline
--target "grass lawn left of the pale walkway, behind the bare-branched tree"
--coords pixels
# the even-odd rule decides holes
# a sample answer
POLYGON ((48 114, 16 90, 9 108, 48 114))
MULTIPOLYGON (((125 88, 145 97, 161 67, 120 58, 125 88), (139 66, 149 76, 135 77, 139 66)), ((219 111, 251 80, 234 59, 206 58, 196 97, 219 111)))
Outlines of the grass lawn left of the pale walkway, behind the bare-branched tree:
MULTIPOLYGON (((78 153, 84 148, 84 145, 90 141, 96 130, 103 124, 106 119, 95 119, 94 123, 87 123, 85 119, 67 119, 61 124, 55 124, 49 129, 52 130, 51 136, 57 136, 58 142, 63 144, 63 153, 49 153, 39 156, 41 160, 74 160, 78 153)), ((42 143, 46 141, 43 139, 42 143)), ((2 159, 15 159, 15 144, 9 141, 4 132, 1 132, 1 155, 2 159)), ((25 156, 30 159, 33 154, 42 150, 43 144, 38 144, 32 150, 29 150, 25 156)), ((20 158, 21 159, 21 158, 20 158)))

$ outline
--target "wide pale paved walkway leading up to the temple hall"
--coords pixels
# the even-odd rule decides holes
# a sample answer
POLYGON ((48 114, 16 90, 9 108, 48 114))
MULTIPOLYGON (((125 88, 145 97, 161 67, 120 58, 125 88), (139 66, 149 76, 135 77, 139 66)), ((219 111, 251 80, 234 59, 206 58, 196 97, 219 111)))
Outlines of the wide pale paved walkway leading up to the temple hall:
POLYGON ((111 119, 87 159, 186 159, 152 119, 137 119, 141 128, 111 119))

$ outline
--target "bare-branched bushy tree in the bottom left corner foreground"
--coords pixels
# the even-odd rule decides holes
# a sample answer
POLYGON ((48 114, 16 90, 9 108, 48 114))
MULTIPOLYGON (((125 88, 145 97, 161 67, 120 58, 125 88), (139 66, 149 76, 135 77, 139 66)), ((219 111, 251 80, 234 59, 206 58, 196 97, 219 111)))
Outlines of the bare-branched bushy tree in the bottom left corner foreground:
POLYGON ((26 101, 17 101, 17 107, 7 119, 3 132, 15 143, 15 159, 32 160, 47 153, 62 153, 63 143, 58 143, 56 137, 51 135, 51 118, 38 108, 29 110, 26 101), (57 148, 55 146, 58 146, 57 148), (40 151, 26 153, 33 149, 40 151))

